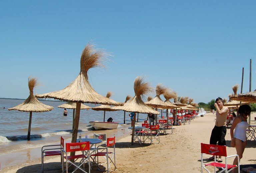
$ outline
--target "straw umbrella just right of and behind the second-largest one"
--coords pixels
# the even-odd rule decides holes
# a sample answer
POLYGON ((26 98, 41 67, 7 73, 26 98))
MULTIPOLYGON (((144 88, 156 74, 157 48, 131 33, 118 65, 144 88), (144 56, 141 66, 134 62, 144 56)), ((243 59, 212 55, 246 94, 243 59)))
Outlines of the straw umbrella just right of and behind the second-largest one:
MULTIPOLYGON (((176 108, 175 105, 170 105, 167 103, 164 103, 161 98, 160 95, 164 94, 165 92, 169 91, 168 88, 164 87, 162 84, 157 84, 156 86, 156 96, 155 98, 153 98, 152 100, 145 102, 146 105, 150 106, 150 107, 154 107, 157 111, 157 107, 160 108, 164 108, 164 109, 172 109, 172 108, 176 108)), ((155 122, 157 124, 157 116, 155 118, 155 122)))

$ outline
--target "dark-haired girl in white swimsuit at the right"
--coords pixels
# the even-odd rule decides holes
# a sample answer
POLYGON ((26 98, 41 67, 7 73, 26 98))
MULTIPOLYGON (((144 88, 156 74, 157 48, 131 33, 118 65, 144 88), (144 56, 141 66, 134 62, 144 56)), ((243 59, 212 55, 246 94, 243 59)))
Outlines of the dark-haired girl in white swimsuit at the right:
MULTIPOLYGON (((249 105, 242 105, 238 109, 238 116, 235 118, 231 129, 231 147, 236 147, 236 154, 239 156, 239 161, 243 157, 244 149, 246 146, 246 129, 249 124, 247 123, 247 117, 251 115, 251 107, 249 105), (235 129, 235 132, 234 132, 235 129)), ((233 165, 237 165, 237 157, 235 157, 233 165)), ((235 170, 232 170, 234 173, 235 170)))

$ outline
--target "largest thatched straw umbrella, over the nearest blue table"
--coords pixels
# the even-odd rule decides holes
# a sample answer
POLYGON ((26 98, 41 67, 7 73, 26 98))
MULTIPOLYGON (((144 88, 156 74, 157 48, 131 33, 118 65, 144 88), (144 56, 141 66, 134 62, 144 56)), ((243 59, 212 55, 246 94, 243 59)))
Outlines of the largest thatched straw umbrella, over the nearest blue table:
MULTIPOLYGON (((76 79, 71 82, 66 88, 60 91, 36 95, 36 97, 38 98, 54 98, 67 102, 76 102, 76 115, 71 142, 76 142, 77 139, 81 103, 122 105, 122 103, 116 102, 98 94, 96 91, 94 91, 88 81, 88 70, 96 67, 105 67, 103 65, 103 61, 104 59, 106 59, 107 55, 108 54, 105 53, 103 50, 95 49, 93 44, 88 43, 81 54, 81 69, 76 79)), ((75 152, 71 153, 71 155, 74 154, 75 152)))

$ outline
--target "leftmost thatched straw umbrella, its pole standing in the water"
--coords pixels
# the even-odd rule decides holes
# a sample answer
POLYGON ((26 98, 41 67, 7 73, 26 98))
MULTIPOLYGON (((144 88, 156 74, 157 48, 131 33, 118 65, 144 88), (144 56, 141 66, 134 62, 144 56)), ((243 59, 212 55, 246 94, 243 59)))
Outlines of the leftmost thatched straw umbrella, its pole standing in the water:
POLYGON ((27 139, 30 140, 30 130, 31 130, 31 121, 32 121, 32 112, 47 112, 53 110, 52 106, 45 105, 39 102, 34 94, 34 88, 38 86, 38 82, 36 78, 28 78, 28 88, 29 88, 29 96, 28 98, 22 103, 13 108, 8 109, 22 111, 22 112, 29 112, 29 124, 28 124, 28 136, 27 139))

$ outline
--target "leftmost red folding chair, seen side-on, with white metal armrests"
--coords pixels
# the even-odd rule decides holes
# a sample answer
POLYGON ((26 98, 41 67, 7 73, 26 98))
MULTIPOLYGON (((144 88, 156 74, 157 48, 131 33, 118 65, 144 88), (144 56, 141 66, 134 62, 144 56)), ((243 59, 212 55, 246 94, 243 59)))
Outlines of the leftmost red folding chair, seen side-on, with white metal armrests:
POLYGON ((47 156, 58 156, 60 155, 60 168, 57 169, 61 169, 62 166, 62 157, 61 157, 61 150, 64 147, 64 139, 61 136, 60 137, 60 144, 59 145, 45 145, 42 147, 41 149, 41 160, 42 160, 42 165, 41 165, 41 169, 42 172, 44 172, 44 170, 54 170, 54 169, 44 169, 44 157, 47 156), (53 146, 60 146, 58 148, 49 148, 49 147, 53 147, 53 146))

